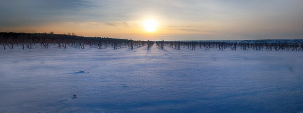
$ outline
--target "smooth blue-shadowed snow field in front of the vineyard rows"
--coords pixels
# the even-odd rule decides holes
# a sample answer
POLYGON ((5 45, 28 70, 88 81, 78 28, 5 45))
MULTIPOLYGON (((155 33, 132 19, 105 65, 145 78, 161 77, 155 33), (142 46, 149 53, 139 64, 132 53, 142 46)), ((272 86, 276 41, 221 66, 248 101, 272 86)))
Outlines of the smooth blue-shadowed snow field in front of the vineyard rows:
POLYGON ((303 111, 302 51, 181 49, 0 48, 0 113, 303 111))

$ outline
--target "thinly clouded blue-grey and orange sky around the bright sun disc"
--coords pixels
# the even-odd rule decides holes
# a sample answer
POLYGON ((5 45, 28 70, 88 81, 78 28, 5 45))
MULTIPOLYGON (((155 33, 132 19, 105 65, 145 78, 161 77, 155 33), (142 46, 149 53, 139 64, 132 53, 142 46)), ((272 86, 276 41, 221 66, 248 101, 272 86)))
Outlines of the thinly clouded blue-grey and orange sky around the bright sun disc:
POLYGON ((303 39, 303 0, 0 0, 0 32, 133 40, 303 39), (154 32, 144 21, 156 21, 154 32))

